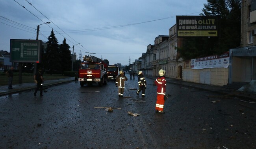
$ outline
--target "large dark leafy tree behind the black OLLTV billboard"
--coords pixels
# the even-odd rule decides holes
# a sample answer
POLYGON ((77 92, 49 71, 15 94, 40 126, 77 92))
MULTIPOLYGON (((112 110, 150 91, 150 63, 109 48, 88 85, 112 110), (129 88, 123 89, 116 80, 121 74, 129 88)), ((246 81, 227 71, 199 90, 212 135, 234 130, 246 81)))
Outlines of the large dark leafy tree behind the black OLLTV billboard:
POLYGON ((219 37, 185 38, 178 48, 184 60, 209 55, 220 55, 239 47, 241 30, 241 0, 207 0, 202 9, 204 16, 219 16, 219 37))

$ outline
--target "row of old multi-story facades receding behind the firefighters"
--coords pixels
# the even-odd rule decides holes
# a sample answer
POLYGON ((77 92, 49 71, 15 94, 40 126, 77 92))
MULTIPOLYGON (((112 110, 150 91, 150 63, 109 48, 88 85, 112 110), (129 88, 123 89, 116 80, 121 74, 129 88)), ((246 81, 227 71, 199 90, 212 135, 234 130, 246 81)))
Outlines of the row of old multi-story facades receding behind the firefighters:
POLYGON ((181 79, 184 61, 177 53, 181 46, 182 38, 176 37, 176 25, 173 25, 169 35, 159 35, 154 45, 147 46, 147 52, 141 56, 141 70, 145 75, 155 77, 160 69, 164 69, 166 77, 181 79))

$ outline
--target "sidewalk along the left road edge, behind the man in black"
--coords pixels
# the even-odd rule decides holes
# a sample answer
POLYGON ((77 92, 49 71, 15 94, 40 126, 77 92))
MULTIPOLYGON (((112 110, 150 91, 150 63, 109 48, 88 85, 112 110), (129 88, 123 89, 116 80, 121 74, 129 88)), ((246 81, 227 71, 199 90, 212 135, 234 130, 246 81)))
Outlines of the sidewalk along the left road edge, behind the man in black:
MULTIPOLYGON (((74 81, 74 77, 58 79, 58 80, 46 80, 43 86, 47 87, 50 85, 57 85, 57 84, 62 84, 70 81, 74 81)), ((0 96, 32 90, 32 89, 35 89, 35 87, 36 87, 35 83, 15 84, 13 85, 13 89, 8 89, 8 85, 0 86, 0 96)))

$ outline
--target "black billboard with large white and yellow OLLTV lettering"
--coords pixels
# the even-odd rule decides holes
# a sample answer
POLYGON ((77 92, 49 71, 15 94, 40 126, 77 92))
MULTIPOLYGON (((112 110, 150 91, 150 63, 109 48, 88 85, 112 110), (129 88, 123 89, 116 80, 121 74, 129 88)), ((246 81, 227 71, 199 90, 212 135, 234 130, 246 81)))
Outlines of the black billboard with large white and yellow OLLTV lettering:
POLYGON ((218 16, 176 16, 177 37, 217 37, 218 16))

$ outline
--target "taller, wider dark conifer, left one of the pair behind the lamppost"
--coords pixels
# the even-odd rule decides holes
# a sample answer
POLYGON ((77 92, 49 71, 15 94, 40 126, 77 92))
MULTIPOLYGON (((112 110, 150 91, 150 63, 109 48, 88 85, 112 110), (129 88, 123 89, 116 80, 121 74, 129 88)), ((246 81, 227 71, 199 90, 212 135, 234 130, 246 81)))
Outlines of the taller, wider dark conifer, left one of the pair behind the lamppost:
POLYGON ((59 68, 61 64, 61 57, 59 51, 58 40, 53 32, 51 31, 50 36, 48 37, 48 42, 46 42, 47 48, 45 53, 45 70, 46 72, 52 75, 53 73, 60 73, 61 68, 59 68))

